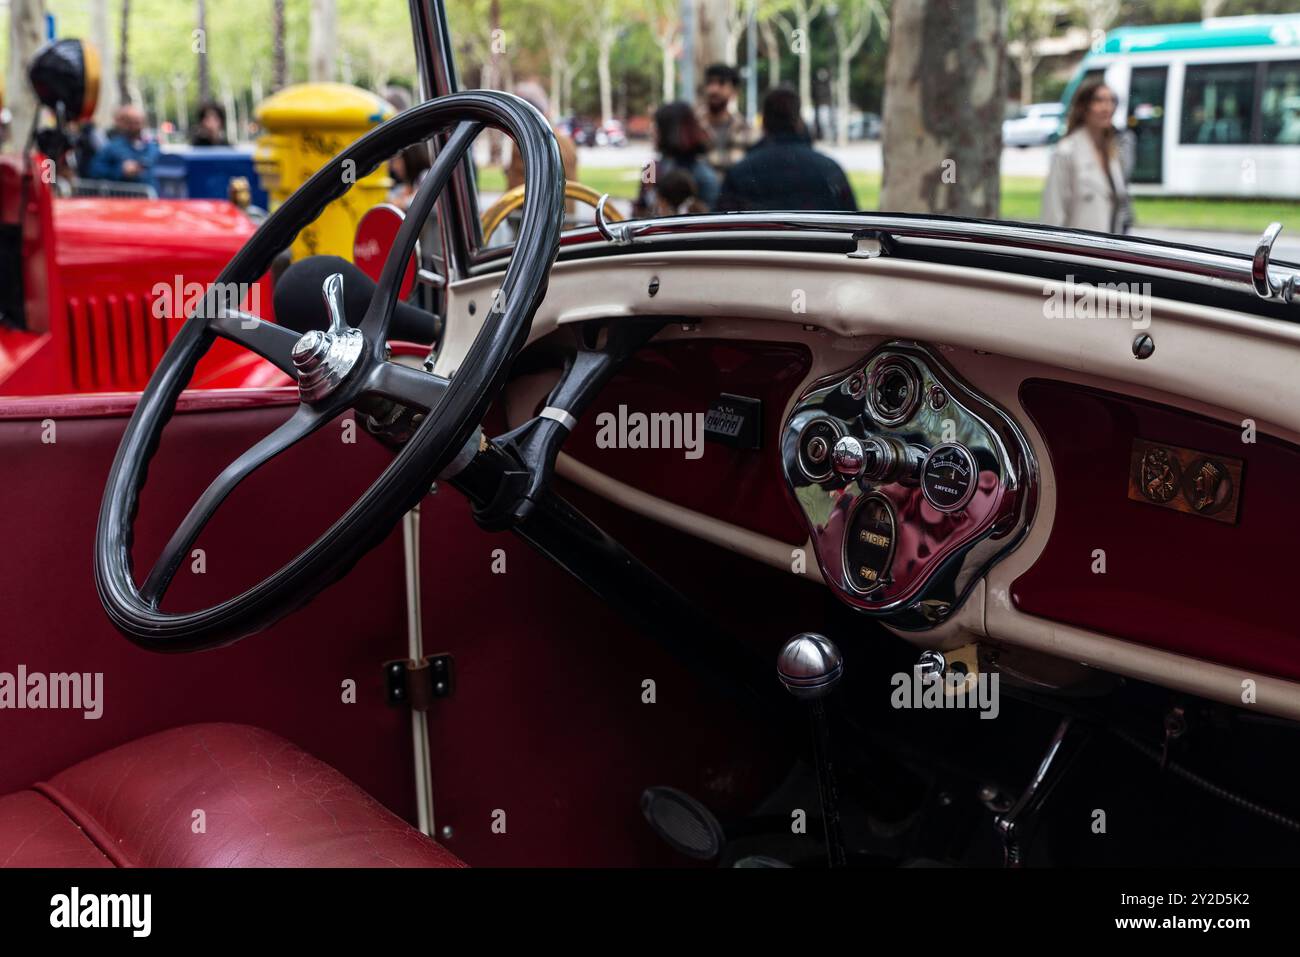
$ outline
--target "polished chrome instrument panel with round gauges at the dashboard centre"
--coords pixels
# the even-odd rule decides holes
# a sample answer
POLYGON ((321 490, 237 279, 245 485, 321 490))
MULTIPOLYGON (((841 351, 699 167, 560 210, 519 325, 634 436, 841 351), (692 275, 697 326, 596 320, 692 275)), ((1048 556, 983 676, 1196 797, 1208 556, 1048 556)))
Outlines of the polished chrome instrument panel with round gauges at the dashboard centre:
POLYGON ((826 580, 911 631, 952 616, 1036 501, 1014 420, 911 342, 815 384, 785 424, 781 462, 826 580))

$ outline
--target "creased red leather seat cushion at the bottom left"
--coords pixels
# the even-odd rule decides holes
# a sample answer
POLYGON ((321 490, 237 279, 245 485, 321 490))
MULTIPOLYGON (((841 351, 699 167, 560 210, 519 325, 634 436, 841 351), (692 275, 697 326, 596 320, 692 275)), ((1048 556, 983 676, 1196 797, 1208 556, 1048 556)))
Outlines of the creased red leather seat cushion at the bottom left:
POLYGON ((464 865, 282 737, 191 724, 0 797, 0 866, 464 865))

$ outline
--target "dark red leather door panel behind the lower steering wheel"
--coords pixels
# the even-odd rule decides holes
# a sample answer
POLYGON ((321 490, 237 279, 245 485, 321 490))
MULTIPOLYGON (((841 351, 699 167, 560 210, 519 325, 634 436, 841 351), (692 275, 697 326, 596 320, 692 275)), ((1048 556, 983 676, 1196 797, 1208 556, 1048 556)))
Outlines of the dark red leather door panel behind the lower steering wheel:
MULTIPOLYGON (((268 395, 191 394, 164 434, 136 520, 147 570, 204 485, 290 413, 268 395), (216 408, 213 408, 216 407, 216 408), (188 410, 188 411, 186 411, 188 410)), ((406 655, 399 534, 347 579, 263 635, 187 655, 143 651, 95 593, 95 521, 131 397, 0 406, 0 672, 103 672, 103 716, 0 710, 0 793, 164 728, 240 722, 274 731, 412 819, 410 718, 385 701, 381 664, 406 655), (48 425, 53 424, 51 443, 48 425), (356 683, 355 703, 344 681, 356 683)), ((324 531, 389 460, 330 426, 252 476, 203 534, 166 607, 230 597, 324 531)))

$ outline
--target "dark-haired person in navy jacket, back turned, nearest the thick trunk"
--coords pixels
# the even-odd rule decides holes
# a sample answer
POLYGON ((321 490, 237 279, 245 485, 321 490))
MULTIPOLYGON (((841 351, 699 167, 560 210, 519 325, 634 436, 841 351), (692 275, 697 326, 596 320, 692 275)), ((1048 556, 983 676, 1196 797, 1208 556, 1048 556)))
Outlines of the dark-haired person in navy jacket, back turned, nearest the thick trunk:
POLYGON ((800 118, 800 96, 777 87, 763 98, 763 138, 727 172, 720 212, 858 208, 840 164, 819 153, 800 118))

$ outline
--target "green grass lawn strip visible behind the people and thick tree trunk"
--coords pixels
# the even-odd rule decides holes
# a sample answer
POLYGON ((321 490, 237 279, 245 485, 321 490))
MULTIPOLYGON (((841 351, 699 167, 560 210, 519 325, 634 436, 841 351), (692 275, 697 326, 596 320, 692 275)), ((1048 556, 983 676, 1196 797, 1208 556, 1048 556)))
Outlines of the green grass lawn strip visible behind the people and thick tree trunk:
MULTIPOLYGON (((582 182, 597 192, 608 192, 616 199, 633 199, 640 185, 640 169, 589 169, 582 182)), ((880 208, 880 174, 850 173, 849 182, 862 209, 880 208)), ((478 189, 502 192, 506 178, 499 169, 478 170, 478 189)), ((1036 221, 1043 198, 1043 181, 1037 177, 1002 177, 1004 220, 1036 221)), ((1138 225, 1162 229, 1204 229, 1227 233, 1262 233, 1273 221, 1300 222, 1300 203, 1268 199, 1175 199, 1166 196, 1138 196, 1134 199, 1138 225)))

